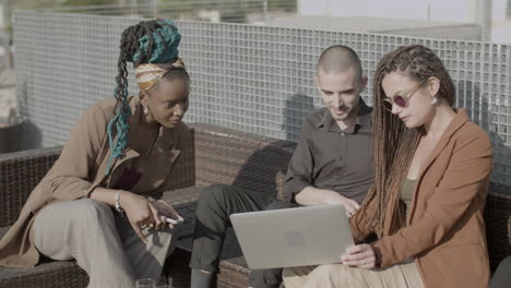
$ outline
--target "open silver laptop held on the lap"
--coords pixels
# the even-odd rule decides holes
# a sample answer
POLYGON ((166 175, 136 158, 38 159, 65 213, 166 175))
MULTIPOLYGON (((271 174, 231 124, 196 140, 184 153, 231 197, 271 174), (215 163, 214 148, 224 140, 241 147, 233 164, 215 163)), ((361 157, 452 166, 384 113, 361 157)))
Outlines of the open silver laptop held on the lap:
POLYGON ((230 221, 251 269, 340 263, 354 243, 341 204, 239 213, 230 221))

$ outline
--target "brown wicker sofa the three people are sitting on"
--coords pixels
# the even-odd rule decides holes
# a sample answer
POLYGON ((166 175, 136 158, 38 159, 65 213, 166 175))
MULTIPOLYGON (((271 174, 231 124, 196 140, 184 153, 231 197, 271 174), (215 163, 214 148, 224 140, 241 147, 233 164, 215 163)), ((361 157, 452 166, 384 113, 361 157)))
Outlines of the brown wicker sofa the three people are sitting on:
MULTIPOLYGON (((209 124, 190 125, 190 145, 176 168, 177 181, 164 199, 186 218, 179 226, 177 249, 164 267, 163 283, 189 287, 194 212, 199 194, 212 183, 228 183, 273 193, 282 199, 282 184, 295 144, 209 124)), ((20 213, 32 189, 58 158, 61 147, 0 154, 0 237, 20 213)), ((485 218, 492 268, 511 254, 511 196, 509 188, 491 184, 485 218), (508 191, 507 191, 508 190, 508 191), (504 193, 508 193, 507 195, 504 193)), ((248 269, 230 230, 217 276, 217 287, 247 287, 248 269)), ((51 262, 34 268, 0 267, 0 287, 86 287, 87 275, 74 262, 51 262)))

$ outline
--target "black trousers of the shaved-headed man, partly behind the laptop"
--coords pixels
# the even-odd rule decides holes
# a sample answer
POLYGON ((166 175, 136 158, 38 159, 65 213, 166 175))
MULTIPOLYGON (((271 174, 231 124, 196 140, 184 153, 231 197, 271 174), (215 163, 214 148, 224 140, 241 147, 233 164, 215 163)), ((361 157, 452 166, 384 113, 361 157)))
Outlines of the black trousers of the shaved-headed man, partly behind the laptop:
MULTIPOLYGON (((225 233, 230 227, 229 215, 243 212, 295 207, 276 201, 268 193, 249 191, 226 184, 213 184, 202 191, 197 207, 197 223, 190 267, 216 272, 225 233)), ((250 286, 278 287, 282 268, 252 271, 250 286)))

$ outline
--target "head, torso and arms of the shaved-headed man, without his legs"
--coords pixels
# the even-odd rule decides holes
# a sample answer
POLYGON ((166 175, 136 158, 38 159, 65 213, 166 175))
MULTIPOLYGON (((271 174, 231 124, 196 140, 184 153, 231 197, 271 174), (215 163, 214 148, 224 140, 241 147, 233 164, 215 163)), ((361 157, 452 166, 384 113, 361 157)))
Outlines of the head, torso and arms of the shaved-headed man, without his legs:
POLYGON ((325 105, 309 115, 285 189, 300 205, 341 203, 353 214, 372 182, 371 111, 357 53, 332 46, 320 56, 316 85, 325 105))

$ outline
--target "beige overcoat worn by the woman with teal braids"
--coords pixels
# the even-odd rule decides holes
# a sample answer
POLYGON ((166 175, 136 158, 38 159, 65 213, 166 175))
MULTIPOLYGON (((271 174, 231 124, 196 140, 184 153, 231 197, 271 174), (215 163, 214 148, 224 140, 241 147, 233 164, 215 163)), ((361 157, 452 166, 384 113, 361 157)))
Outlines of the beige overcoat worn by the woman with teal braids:
MULTIPOLYGON (((142 106, 138 97, 130 97, 129 140, 138 137, 141 131, 142 106)), ((76 121, 63 151, 32 191, 20 217, 0 240, 0 265, 34 266, 39 253, 31 239, 35 215, 44 206, 56 201, 86 197, 97 185, 110 188, 122 175, 124 167, 141 157, 139 152, 128 147, 124 155, 112 161, 111 171, 106 176, 110 155, 107 125, 114 118, 116 99, 105 99, 91 106, 76 121)), ((161 127, 159 134, 147 157, 144 172, 132 192, 159 199, 168 181, 173 181, 173 168, 189 140, 185 123, 174 129, 161 127)), ((151 142, 151 140, 147 140, 151 142)), ((150 143, 148 143, 150 144, 150 143)))

